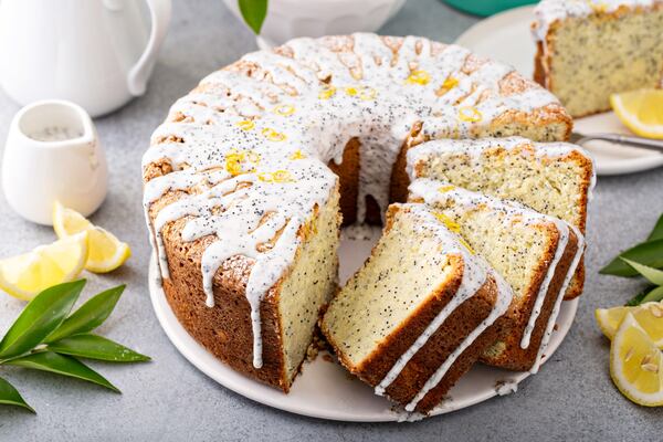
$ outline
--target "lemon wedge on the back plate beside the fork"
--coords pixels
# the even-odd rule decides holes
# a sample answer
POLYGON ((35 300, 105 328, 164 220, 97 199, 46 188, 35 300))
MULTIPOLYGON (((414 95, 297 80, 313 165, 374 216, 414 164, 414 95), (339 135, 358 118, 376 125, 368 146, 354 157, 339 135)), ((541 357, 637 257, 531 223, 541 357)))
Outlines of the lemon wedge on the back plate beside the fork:
POLYGON ((610 95, 612 110, 633 133, 663 139, 663 90, 640 90, 610 95))

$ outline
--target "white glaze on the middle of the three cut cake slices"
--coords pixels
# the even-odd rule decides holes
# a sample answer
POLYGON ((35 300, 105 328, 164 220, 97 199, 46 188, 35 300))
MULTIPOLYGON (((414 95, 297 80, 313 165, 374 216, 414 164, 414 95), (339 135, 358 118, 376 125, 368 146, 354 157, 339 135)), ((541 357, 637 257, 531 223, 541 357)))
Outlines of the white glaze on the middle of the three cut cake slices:
POLYGON ((559 239, 557 242, 555 255, 554 255, 554 259, 548 264, 546 275, 545 275, 544 281, 541 282, 539 290, 537 292, 535 304, 532 308, 532 313, 527 320, 527 325, 526 325, 525 329, 523 330, 523 336, 520 338, 520 348, 526 349, 529 347, 532 333, 534 332, 536 320, 538 319, 538 317, 541 313, 544 302, 548 294, 550 281, 551 281, 552 276, 555 275, 555 273, 557 271, 557 265, 559 264, 559 261, 567 249, 567 244, 568 244, 568 240, 569 240, 569 229, 573 230, 573 233, 576 234, 576 236, 578 239, 578 250, 576 251, 576 253, 571 260, 571 265, 569 266, 569 270, 567 271, 566 275, 565 275, 562 287, 556 297, 555 307, 554 307, 552 312, 550 313, 548 323, 546 324, 546 327, 545 327, 546 332, 544 333, 544 337, 541 338, 541 343, 539 344, 538 355, 537 355, 535 364, 534 364, 534 367, 538 367, 543 351, 548 344, 548 340, 549 340, 549 337, 551 334, 551 329, 555 325, 555 320, 557 318, 557 315, 559 314, 559 307, 561 305, 561 299, 564 298, 566 290, 568 288, 568 285, 576 272, 578 263, 580 262, 580 259, 585 252, 585 246, 583 246, 585 239, 583 239, 582 234, 575 227, 572 227, 555 217, 535 212, 515 201, 503 201, 497 198, 487 197, 485 194, 472 192, 470 190, 465 190, 465 189, 461 189, 461 188, 452 188, 452 189, 446 190, 445 192, 440 192, 438 190, 441 187, 446 186, 446 185, 448 183, 438 181, 438 180, 432 180, 432 179, 428 179, 428 178, 419 178, 410 185, 409 191, 413 198, 421 198, 425 203, 432 204, 432 206, 435 206, 436 203, 441 203, 446 200, 452 200, 455 203, 457 203, 459 206, 466 207, 466 208, 475 208, 481 204, 481 206, 486 206, 493 210, 498 210, 498 211, 505 213, 507 215, 505 218, 505 222, 511 221, 513 219, 513 217, 515 215, 518 218, 518 222, 522 222, 524 224, 551 222, 551 223, 555 223, 555 225, 557 228, 557 231, 559 233, 559 239))

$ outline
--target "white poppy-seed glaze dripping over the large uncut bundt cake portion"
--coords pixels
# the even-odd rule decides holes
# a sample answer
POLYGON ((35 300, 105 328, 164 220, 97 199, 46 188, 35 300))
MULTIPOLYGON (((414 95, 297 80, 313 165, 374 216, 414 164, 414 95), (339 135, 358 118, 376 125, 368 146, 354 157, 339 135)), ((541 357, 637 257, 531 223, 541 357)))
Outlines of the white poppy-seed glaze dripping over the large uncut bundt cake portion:
POLYGON ((254 262, 246 296, 252 308, 255 367, 262 364, 257 355, 262 348, 260 302, 292 263, 298 228, 314 207, 324 206, 336 186, 326 164, 340 162, 350 138, 357 137, 361 144, 358 219, 362 221, 367 196, 375 198, 382 211, 386 208, 391 166, 414 122, 423 122, 427 134, 434 137, 454 130, 461 136, 488 126, 505 110, 532 113, 558 103, 538 86, 502 96, 498 82, 513 69, 485 61, 466 73, 463 66, 470 52, 459 46, 408 36, 394 53, 375 34, 354 34, 351 42, 354 52, 334 52, 322 41, 296 39, 286 45, 292 59, 272 52, 245 55, 243 63, 254 66, 251 77, 238 66, 208 75, 197 90, 172 105, 143 158, 144 170, 166 162, 173 170, 166 177, 179 173, 146 183, 148 224, 151 203, 160 196, 187 191, 189 183, 200 188, 161 208, 149 228, 162 277, 169 275, 160 230, 183 217, 183 241, 218 236, 203 252, 208 305, 213 305, 212 280, 227 259, 241 254, 254 262), (440 52, 434 55, 433 50, 440 52), (425 73, 430 82, 409 82, 412 72, 425 73), (435 90, 448 77, 457 80, 457 85, 438 96, 435 90), (328 99, 319 97, 329 88, 323 80, 330 80, 335 88, 328 99), (462 106, 476 106, 482 118, 460 119, 462 106), (294 112, 284 115, 278 108, 294 112), (272 139, 270 134, 282 139, 272 139), (231 149, 261 157, 260 164, 253 165, 256 172, 242 170, 240 175, 240 181, 250 182, 250 188, 221 194, 219 187, 231 180, 230 173, 197 181, 196 176, 210 168, 223 169, 231 149), (294 154, 305 159, 292 160, 294 154), (276 170, 286 171, 293 180, 274 183, 256 179, 261 172, 276 170), (267 212, 272 218, 257 228, 267 212), (260 241, 282 228, 285 230, 269 252, 255 250, 260 241))

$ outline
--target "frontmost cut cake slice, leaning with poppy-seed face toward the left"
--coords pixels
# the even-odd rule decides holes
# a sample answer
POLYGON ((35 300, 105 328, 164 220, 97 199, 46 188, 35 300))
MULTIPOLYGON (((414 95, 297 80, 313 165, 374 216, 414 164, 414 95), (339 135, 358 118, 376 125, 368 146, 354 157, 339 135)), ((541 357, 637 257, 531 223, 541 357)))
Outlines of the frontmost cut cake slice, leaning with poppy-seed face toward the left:
POLYGON ((371 256, 322 320, 339 361, 376 393, 429 412, 508 332, 511 287, 424 204, 392 204, 371 256))

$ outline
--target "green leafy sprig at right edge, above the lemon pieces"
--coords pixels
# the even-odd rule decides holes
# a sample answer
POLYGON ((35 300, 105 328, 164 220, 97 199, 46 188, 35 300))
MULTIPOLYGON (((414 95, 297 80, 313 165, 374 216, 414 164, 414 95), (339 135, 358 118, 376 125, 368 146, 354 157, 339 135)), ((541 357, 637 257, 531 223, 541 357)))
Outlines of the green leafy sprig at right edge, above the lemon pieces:
POLYGON ((623 251, 600 270, 604 275, 643 276, 650 284, 627 305, 634 306, 663 299, 663 214, 644 242, 623 251))

